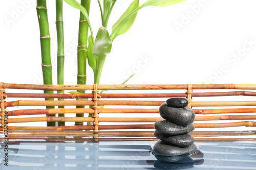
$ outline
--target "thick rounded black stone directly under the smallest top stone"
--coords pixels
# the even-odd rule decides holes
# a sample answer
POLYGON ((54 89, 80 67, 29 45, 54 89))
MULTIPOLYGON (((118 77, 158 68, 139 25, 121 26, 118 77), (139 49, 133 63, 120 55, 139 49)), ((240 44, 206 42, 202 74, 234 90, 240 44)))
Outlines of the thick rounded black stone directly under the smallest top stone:
POLYGON ((159 114, 164 119, 180 126, 186 126, 194 122, 195 112, 189 107, 175 108, 170 107, 167 103, 161 104, 159 114))

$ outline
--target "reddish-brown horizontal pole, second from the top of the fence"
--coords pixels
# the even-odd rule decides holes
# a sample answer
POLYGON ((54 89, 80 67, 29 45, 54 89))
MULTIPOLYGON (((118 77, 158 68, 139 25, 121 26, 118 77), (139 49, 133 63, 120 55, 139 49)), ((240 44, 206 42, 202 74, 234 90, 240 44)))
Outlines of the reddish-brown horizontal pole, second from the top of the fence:
MULTIPOLYGON (((55 99, 89 99, 93 98, 91 93, 76 93, 76 94, 60 94, 60 93, 4 93, 8 98, 55 98, 55 99)), ((256 92, 252 91, 230 91, 230 92, 201 92, 193 93, 192 97, 209 97, 209 96, 231 96, 245 95, 256 96, 256 92)), ((186 98, 186 93, 118 93, 108 94, 101 93, 101 98, 186 98)))

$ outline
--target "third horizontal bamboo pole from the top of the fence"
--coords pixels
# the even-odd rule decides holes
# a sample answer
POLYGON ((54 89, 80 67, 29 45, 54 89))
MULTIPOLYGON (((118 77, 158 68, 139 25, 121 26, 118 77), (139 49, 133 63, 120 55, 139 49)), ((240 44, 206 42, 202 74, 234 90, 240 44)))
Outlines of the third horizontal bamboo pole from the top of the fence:
MULTIPOLYGON (((136 106, 160 106, 165 101, 98 101, 98 105, 136 105, 136 106)), ((93 101, 13 101, 6 102, 5 107, 13 106, 85 106, 94 104, 93 101)), ((256 101, 231 101, 231 102, 191 102, 192 107, 205 106, 256 106, 256 101)))

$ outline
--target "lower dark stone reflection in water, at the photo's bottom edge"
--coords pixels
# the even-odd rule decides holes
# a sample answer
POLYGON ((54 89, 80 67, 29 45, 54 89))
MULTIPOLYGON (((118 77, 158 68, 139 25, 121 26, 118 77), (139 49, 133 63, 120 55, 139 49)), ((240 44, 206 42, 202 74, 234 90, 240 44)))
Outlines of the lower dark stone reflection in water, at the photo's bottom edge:
POLYGON ((167 163, 160 160, 156 160, 154 162, 154 167, 158 169, 168 169, 168 170, 178 170, 178 169, 186 169, 193 166, 193 162, 189 163, 167 163))

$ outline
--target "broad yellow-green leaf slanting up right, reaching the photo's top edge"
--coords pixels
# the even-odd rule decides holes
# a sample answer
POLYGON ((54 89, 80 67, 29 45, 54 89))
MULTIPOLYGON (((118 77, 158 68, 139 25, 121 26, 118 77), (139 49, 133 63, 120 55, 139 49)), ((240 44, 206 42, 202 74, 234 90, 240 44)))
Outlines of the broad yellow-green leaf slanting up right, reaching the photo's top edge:
MULTIPOLYGON (((139 0, 135 0, 131 3, 131 5, 127 8, 127 10, 122 14, 122 16, 117 20, 117 22, 112 26, 112 32, 119 26, 124 18, 126 18, 129 14, 131 14, 135 9, 139 7, 139 0)), ((126 19, 121 26, 119 26, 118 30, 111 35, 112 41, 116 38, 116 36, 126 33, 133 26, 133 23, 136 19, 137 13, 134 13, 131 17, 126 19)))

